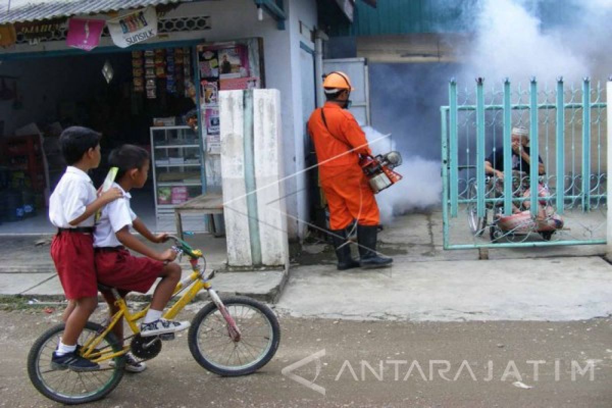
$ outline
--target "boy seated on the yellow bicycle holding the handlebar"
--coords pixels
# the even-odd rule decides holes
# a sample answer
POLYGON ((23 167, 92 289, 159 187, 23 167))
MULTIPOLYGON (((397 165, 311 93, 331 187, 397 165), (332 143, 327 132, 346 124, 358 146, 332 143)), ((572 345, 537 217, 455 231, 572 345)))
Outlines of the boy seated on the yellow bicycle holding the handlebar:
MULTIPOLYGON (((132 188, 141 188, 149 172, 149 154, 138 146, 125 144, 114 149, 108 164, 119 169, 114 187, 122 192, 122 197, 102 209, 100 220, 95 226, 94 251, 95 267, 98 281, 106 286, 116 287, 120 291, 146 293, 157 278, 162 278, 151 300, 151 306, 140 325, 141 336, 157 336, 185 330, 189 322, 168 321, 162 318, 162 311, 171 299, 176 284, 181 279, 181 267, 174 259, 173 250, 158 253, 140 242, 130 233, 130 227, 154 243, 166 242, 167 234, 152 234, 130 208, 132 188), (143 254, 143 257, 132 256, 126 249, 143 254)), ((110 316, 118 311, 112 294, 103 293, 110 307, 110 316)), ((113 328, 119 339, 123 339, 123 321, 113 328)), ((144 363, 128 361, 126 366, 136 365, 133 370, 142 371, 144 363)))

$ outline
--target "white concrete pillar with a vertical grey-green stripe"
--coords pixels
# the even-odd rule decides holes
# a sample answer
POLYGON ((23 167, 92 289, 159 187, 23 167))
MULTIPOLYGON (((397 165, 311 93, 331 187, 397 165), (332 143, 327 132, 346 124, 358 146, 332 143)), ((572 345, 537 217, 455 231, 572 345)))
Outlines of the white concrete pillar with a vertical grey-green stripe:
POLYGON ((228 267, 288 267, 280 94, 219 93, 228 267))

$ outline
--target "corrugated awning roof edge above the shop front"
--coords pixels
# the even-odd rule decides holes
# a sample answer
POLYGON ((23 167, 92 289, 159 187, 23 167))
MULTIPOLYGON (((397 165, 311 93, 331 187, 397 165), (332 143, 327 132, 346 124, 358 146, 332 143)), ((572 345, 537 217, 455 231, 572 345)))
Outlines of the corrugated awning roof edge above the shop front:
POLYGON ((47 0, 28 1, 23 6, 0 10, 0 24, 70 17, 72 15, 98 14, 133 9, 136 7, 176 4, 196 0, 47 0))

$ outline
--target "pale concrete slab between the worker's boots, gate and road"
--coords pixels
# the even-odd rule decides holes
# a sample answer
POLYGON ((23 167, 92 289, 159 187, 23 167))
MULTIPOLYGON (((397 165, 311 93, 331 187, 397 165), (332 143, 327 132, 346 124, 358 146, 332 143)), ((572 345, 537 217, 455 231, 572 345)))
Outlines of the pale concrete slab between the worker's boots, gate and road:
POLYGON ((393 321, 572 321, 612 313, 612 267, 598 257, 394 262, 375 272, 291 271, 291 316, 393 321))

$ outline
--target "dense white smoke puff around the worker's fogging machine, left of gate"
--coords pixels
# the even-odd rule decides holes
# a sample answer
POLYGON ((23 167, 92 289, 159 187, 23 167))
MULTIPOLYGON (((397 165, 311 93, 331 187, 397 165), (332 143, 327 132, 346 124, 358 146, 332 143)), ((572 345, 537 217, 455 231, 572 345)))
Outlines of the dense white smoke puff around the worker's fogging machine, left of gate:
MULTIPOLYGON (((383 135, 371 127, 365 127, 364 132, 375 155, 386 154, 395 149, 395 142, 390 135, 383 135)), ((412 210, 431 209, 440 205, 441 163, 411 156, 409 152, 400 152, 400 154, 403 161, 395 171, 403 178, 376 195, 381 224, 391 223, 394 215, 402 215, 412 210)))

